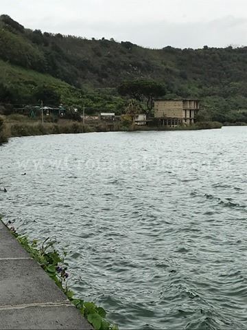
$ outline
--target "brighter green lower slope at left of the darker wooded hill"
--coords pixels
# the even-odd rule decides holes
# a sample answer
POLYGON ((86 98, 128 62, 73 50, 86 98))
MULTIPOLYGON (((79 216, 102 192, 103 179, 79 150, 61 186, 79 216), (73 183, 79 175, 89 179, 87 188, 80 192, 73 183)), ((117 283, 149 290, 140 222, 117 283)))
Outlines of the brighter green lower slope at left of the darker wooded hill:
MULTIPOLYGON (((113 91, 83 90, 73 87, 64 81, 54 78, 49 74, 41 74, 31 69, 25 69, 8 62, 0 60, 0 103, 1 86, 10 93, 11 103, 19 106, 21 104, 36 104, 38 99, 36 93, 39 87, 45 87, 60 96, 60 102, 83 107, 86 104, 87 113, 98 111, 121 111, 125 101, 115 95, 113 91)), ((9 102, 6 102, 9 103, 9 102)), ((48 102, 49 103, 49 102, 48 102)), ((52 101, 51 101, 52 104, 52 101)))

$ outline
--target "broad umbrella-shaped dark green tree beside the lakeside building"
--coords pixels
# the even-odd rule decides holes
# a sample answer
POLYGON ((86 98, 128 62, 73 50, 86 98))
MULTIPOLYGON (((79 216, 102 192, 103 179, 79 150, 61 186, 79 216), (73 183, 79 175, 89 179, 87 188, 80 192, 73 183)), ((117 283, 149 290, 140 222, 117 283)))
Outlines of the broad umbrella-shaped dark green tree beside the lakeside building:
POLYGON ((145 113, 150 115, 154 104, 154 98, 165 95, 165 86, 154 80, 130 80, 119 85, 118 92, 121 96, 129 96, 135 100, 146 101, 147 109, 145 113))

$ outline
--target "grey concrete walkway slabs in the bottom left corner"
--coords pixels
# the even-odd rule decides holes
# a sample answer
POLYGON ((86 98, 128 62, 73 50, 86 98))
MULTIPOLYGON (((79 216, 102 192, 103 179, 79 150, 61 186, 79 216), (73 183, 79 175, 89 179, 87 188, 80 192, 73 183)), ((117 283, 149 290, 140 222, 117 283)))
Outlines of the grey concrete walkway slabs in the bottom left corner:
POLYGON ((1 221, 0 329, 93 329, 1 221))

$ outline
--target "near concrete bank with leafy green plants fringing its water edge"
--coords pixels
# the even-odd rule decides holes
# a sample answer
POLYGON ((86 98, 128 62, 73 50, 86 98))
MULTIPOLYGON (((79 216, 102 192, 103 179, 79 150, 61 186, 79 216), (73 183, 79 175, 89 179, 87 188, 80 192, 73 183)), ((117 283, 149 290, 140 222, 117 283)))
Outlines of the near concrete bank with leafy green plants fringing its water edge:
POLYGON ((75 296, 68 285, 66 254, 56 250, 56 240, 30 241, 16 232, 11 223, 5 224, 1 217, 0 229, 3 272, 9 273, 14 268, 17 273, 0 279, 0 283, 7 282, 0 292, 0 307, 3 305, 0 314, 13 329, 20 325, 29 325, 31 329, 35 324, 36 329, 118 330, 117 325, 106 319, 104 308, 75 296), (8 285, 9 282, 12 285, 8 285), (10 305, 12 311, 9 312, 10 305))

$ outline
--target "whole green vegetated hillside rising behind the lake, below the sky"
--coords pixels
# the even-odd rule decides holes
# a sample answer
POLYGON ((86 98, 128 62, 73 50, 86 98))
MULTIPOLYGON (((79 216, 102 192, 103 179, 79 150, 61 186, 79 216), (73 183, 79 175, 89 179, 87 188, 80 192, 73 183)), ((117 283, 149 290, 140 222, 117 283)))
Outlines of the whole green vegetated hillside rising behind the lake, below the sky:
MULTIPOLYGON (((247 47, 150 50, 128 41, 87 40, 25 29, 0 18, 1 102, 38 102, 40 89, 89 113, 121 112, 126 80, 153 80, 166 98, 199 98, 203 120, 247 122, 247 47)), ((54 99, 53 99, 54 100, 54 99)))

